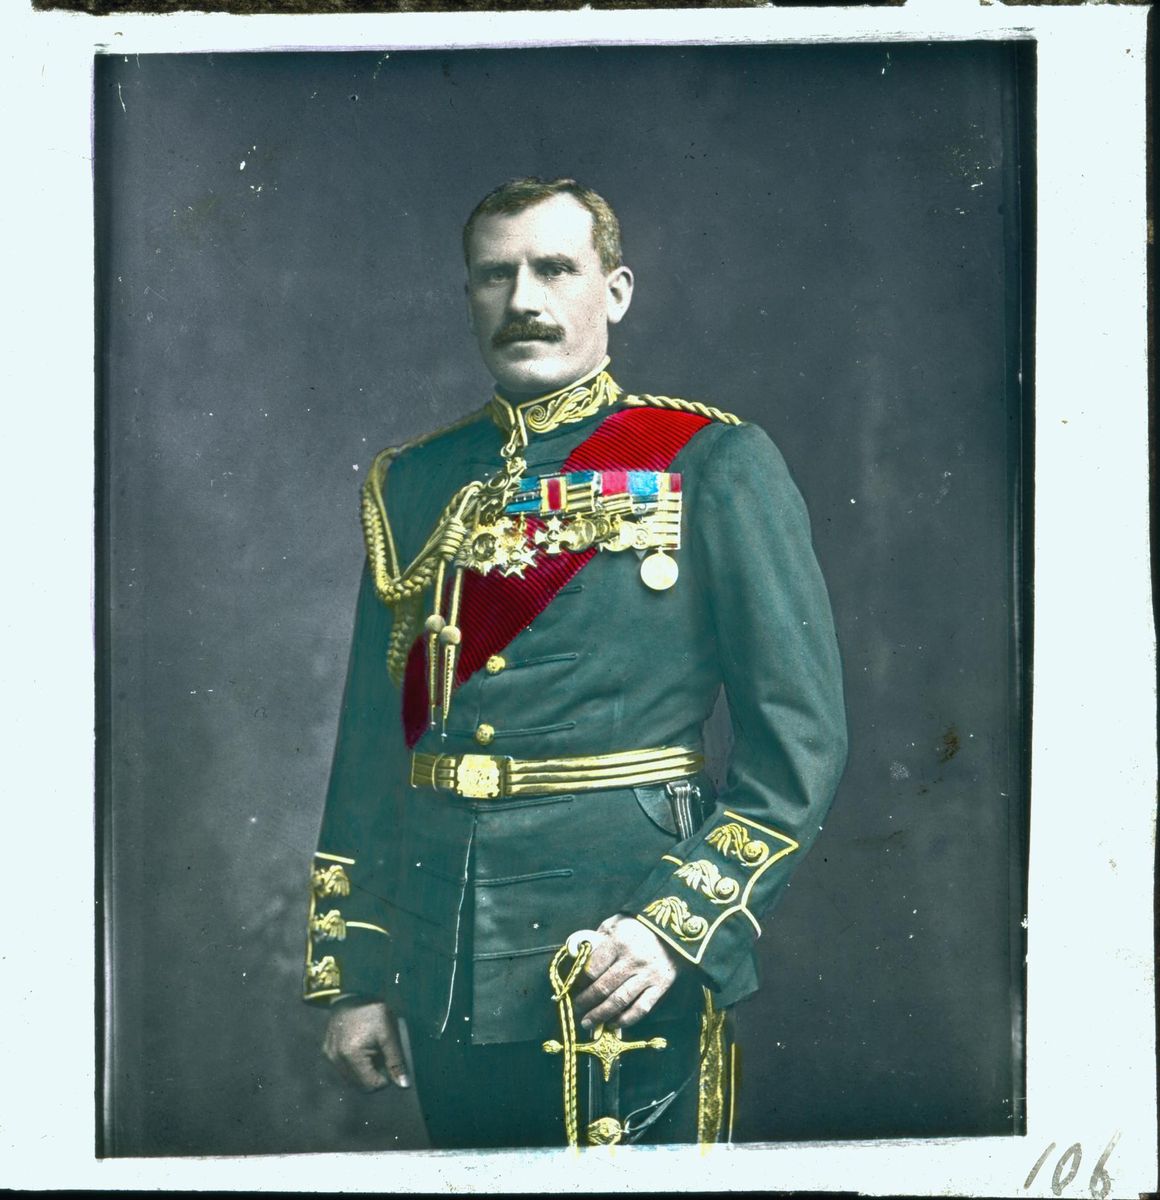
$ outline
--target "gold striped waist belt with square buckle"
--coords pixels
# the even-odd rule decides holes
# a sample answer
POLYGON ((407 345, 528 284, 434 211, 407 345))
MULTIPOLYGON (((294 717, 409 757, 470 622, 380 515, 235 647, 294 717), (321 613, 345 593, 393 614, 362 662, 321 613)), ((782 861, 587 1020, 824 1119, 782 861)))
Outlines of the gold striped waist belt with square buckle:
POLYGON ((434 787, 473 800, 509 796, 560 796, 696 775, 705 757, 684 746, 623 750, 573 758, 507 758, 489 754, 414 754, 411 787, 434 787))

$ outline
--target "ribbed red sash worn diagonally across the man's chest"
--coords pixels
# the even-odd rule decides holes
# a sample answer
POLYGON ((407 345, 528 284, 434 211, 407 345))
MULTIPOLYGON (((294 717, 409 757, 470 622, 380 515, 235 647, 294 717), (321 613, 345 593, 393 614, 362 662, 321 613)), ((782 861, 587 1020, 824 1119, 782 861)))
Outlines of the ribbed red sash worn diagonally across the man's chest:
MULTIPOLYGON (((711 424, 695 413, 662 408, 623 408, 607 416, 593 434, 565 460, 561 474, 572 470, 667 470, 678 452, 698 430, 711 424)), ((542 528, 528 517, 535 535, 542 528)), ((456 665, 456 685, 469 679, 485 662, 527 629, 597 553, 595 546, 579 553, 541 552, 521 578, 498 571, 463 578, 459 629, 463 641, 456 665)), ((420 635, 407 659, 403 676, 403 732, 414 746, 427 732, 431 710, 427 698, 427 638, 420 635)))

